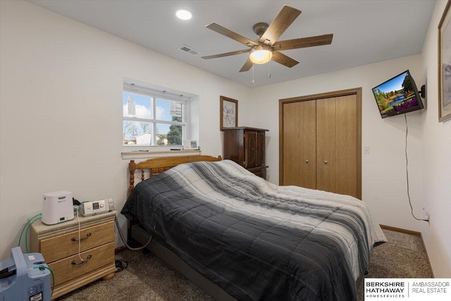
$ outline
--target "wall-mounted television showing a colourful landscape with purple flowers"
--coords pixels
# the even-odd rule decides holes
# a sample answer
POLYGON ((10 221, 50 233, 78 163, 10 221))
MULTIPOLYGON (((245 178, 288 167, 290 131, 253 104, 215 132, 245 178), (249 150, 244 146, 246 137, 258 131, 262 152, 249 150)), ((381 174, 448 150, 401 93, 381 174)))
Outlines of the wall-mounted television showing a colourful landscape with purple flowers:
POLYGON ((424 108, 409 70, 373 87, 373 94, 382 118, 424 108))

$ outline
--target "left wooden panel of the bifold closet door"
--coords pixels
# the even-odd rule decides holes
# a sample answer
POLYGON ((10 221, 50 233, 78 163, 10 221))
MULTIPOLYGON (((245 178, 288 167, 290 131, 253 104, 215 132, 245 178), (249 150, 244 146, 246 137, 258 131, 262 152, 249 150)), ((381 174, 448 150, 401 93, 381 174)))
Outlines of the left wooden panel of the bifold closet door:
POLYGON ((316 188, 316 102, 283 104, 283 183, 316 188))

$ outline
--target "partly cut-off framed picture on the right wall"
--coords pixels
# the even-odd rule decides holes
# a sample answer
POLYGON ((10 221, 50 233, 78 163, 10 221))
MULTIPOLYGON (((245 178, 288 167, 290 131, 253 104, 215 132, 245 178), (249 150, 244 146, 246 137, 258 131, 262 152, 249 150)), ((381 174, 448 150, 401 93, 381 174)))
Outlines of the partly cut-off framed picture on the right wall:
POLYGON ((450 4, 447 1, 438 23, 438 121, 451 119, 451 25, 450 4))

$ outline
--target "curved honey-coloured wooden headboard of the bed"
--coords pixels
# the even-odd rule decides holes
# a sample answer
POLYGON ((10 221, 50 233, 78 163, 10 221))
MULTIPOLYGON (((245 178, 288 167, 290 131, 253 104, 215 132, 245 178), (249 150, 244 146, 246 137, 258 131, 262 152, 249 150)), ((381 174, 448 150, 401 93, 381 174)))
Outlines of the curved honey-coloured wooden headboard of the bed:
POLYGON ((174 166, 183 163, 197 162, 197 161, 221 161, 221 156, 163 156, 159 158, 152 158, 140 163, 135 163, 135 160, 130 160, 128 164, 128 171, 130 171, 130 185, 128 186, 128 195, 135 188, 135 171, 141 169, 141 180, 144 180, 144 173, 149 170, 149 176, 155 176, 163 171, 167 171, 174 166))

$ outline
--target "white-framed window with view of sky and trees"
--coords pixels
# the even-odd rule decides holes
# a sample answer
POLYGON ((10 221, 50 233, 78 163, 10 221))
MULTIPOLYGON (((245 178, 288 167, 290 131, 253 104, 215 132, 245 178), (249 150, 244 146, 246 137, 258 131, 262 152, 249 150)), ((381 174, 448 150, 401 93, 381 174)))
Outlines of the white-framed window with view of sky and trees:
POLYGON ((124 83, 123 146, 183 145, 187 97, 124 83))

